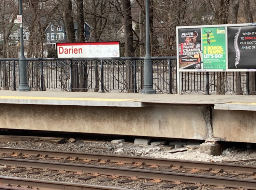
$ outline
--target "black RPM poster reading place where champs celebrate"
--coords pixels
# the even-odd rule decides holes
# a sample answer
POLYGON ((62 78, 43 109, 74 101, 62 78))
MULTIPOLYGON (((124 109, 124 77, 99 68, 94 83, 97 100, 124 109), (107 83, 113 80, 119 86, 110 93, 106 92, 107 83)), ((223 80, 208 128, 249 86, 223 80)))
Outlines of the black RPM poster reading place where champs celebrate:
POLYGON ((200 29, 179 29, 180 69, 201 69, 200 51, 200 29))

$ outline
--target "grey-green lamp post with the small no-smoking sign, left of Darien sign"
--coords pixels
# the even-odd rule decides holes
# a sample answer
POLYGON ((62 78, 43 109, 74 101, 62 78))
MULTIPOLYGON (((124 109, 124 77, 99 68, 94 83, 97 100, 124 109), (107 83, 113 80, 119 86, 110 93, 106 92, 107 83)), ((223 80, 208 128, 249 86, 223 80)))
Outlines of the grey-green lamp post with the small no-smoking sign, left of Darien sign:
MULTIPOLYGON (((19 15, 23 15, 22 0, 19 0, 19 15)), ((20 23, 19 88, 17 91, 30 91, 27 83, 27 62, 24 56, 23 23, 20 23)))

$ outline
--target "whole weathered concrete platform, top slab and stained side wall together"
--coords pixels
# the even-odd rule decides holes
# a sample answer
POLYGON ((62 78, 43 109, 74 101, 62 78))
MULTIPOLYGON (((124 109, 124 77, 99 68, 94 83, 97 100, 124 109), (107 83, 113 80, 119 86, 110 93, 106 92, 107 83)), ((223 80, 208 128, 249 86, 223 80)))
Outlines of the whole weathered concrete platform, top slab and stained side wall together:
POLYGON ((0 91, 0 128, 255 143, 255 96, 0 91))

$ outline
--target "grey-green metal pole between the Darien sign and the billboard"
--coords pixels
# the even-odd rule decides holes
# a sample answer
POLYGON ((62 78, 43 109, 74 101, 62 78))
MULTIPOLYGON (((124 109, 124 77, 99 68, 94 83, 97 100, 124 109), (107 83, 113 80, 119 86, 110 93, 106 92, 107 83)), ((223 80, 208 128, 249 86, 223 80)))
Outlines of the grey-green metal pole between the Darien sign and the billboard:
POLYGON ((156 94, 153 89, 153 68, 150 52, 150 0, 146 0, 146 55, 144 58, 144 88, 141 94, 156 94))

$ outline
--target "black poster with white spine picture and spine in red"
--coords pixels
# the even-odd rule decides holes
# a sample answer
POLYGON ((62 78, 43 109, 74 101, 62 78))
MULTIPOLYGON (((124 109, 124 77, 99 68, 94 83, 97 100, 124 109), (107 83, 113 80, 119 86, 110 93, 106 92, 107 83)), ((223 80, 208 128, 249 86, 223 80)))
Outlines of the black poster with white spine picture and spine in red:
POLYGON ((255 69, 256 27, 228 27, 228 69, 255 69))

